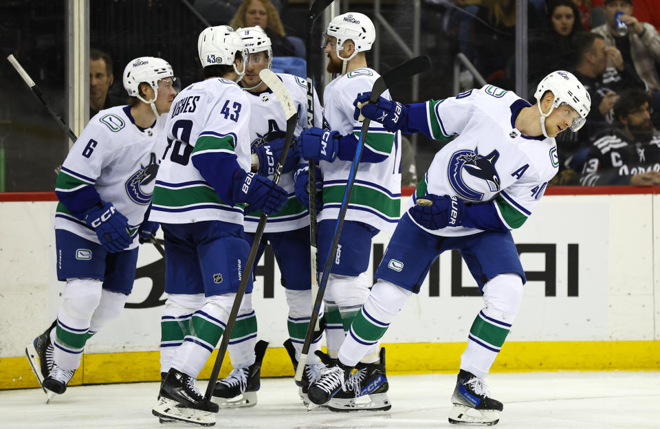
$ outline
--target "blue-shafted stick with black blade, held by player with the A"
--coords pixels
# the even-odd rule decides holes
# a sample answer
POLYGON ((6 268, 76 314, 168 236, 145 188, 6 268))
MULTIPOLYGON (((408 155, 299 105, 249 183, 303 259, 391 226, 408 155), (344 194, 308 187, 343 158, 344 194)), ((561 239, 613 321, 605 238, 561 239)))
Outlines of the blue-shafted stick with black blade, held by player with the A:
MULTIPOLYGON (((383 76, 377 78, 377 80, 373 83, 369 102, 377 102, 380 95, 383 94, 389 87, 392 87, 394 83, 397 83, 399 80, 403 80, 404 78, 424 72, 430 67, 430 65, 431 63, 428 59, 428 56, 417 56, 401 65, 397 65, 397 67, 389 70, 383 76)), ((296 369, 296 380, 302 380, 303 377, 303 369, 305 368, 305 363, 307 362, 307 353, 309 353, 311 338, 314 335, 314 325, 316 325, 316 320, 318 319, 321 303, 323 301, 323 295, 325 294, 325 286, 328 283, 330 270, 332 268, 333 261, 335 260, 339 237, 342 232, 342 227, 344 226, 344 217, 346 217, 346 211, 349 207, 351 191, 353 190, 353 184, 355 183, 355 175, 358 173, 358 166, 360 166, 360 157, 362 156, 362 149, 364 148, 364 141, 366 140, 366 135, 369 131, 370 122, 371 120, 369 120, 369 118, 364 119, 364 122, 362 122, 360 142, 358 143, 358 147, 355 149, 355 157, 353 158, 353 163, 351 164, 348 183, 346 190, 344 190, 344 197, 342 199, 342 205, 339 210, 339 217, 337 218, 335 232, 332 236, 330 253, 328 254, 325 265, 323 266, 323 274, 318 285, 318 292, 316 294, 316 301, 314 302, 314 309, 311 313, 309 326, 307 327, 307 335, 305 335, 305 344, 303 344, 303 351, 300 353, 300 360, 298 361, 298 368, 296 369)))

